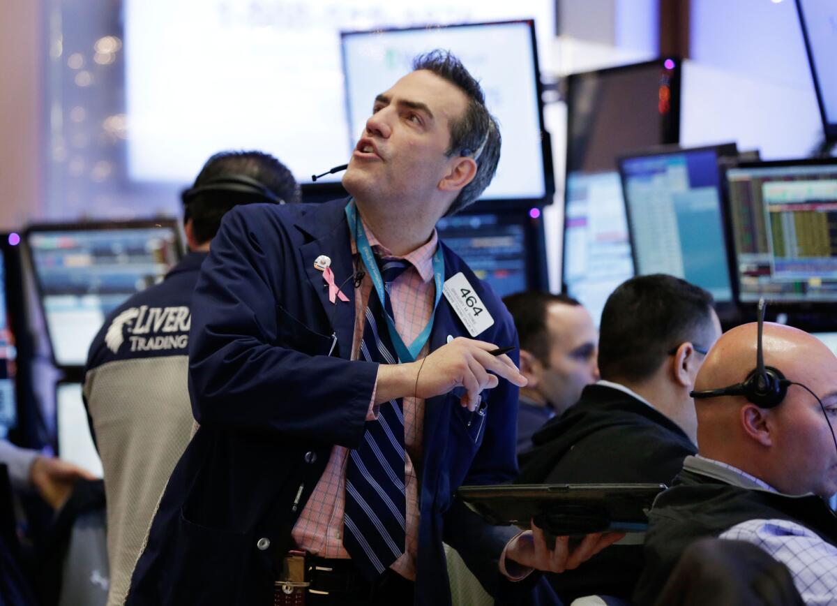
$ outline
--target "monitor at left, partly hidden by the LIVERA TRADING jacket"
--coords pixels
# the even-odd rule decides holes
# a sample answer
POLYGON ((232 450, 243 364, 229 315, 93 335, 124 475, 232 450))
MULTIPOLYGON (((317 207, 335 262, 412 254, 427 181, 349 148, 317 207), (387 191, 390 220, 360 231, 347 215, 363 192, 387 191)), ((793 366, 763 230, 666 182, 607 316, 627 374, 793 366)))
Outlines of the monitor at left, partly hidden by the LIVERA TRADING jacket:
POLYGON ((174 220, 34 225, 26 244, 55 365, 85 365, 105 316, 180 257, 174 220))

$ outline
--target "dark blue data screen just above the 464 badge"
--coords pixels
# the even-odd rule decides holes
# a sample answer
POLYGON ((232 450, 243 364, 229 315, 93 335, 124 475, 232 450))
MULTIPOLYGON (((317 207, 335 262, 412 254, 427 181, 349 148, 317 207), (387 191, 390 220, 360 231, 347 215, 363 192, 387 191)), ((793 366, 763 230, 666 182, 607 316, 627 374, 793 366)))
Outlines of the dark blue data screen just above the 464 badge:
POLYGON ((500 297, 528 287, 526 227, 500 215, 454 215, 439 220, 439 238, 500 297))

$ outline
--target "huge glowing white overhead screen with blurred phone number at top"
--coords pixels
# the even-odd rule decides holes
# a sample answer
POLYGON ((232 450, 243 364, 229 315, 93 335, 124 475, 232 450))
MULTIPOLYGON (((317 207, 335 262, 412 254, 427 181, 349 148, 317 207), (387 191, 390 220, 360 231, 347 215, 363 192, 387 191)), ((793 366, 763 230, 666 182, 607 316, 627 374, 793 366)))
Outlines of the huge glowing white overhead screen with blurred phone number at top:
POLYGON ((534 18, 542 44, 555 37, 554 0, 123 4, 127 164, 135 181, 189 183, 224 149, 272 153, 306 183, 347 162, 357 134, 347 126, 341 31, 534 18))

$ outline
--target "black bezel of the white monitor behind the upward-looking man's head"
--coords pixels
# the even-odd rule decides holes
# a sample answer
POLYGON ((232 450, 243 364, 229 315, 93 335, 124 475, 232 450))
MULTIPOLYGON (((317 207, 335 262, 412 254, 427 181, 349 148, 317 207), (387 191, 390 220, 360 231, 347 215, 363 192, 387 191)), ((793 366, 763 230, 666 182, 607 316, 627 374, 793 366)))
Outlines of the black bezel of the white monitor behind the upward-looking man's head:
MULTIPOLYGON (((541 198, 521 197, 521 198, 490 198, 477 199, 483 205, 483 208, 491 208, 492 210, 507 210, 507 209, 523 209, 528 210, 531 207, 542 208, 544 205, 552 204, 555 197, 555 171, 552 165, 552 137, 546 129, 544 120, 544 102, 543 102, 543 83, 541 81, 541 65, 537 54, 537 36, 535 34, 535 21, 533 19, 508 19, 505 21, 485 21, 479 23, 450 23, 447 25, 439 25, 438 23, 426 23, 424 25, 413 25, 406 28, 377 28, 377 29, 359 29, 359 30, 344 30, 340 32, 340 54, 341 65, 343 70, 343 90, 344 101, 346 109, 346 126, 349 129, 349 140, 355 141, 357 132, 352 132, 352 101, 349 95, 349 75, 347 70, 347 56, 346 56, 346 39, 352 36, 374 36, 383 34, 393 34, 398 32, 422 31, 422 30, 439 30, 452 28, 475 28, 485 26, 503 26, 511 24, 526 24, 529 27, 529 36, 531 40, 531 54, 532 65, 535 69, 535 95, 537 97, 537 117, 539 129, 541 132, 541 158, 542 158, 542 174, 543 174, 543 189, 544 195, 541 198)), ((502 134, 502 131, 501 131, 502 134)), ((476 203, 475 202, 475 203, 476 203)))

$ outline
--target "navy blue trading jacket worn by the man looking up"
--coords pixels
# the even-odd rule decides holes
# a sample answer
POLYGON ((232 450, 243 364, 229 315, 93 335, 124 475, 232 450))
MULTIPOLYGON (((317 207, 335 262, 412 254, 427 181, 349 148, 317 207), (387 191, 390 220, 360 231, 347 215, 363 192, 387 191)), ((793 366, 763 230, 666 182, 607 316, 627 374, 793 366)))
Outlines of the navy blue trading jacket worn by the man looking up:
MULTIPOLYGON (((377 364, 348 360, 351 279, 349 302, 332 304, 314 267, 327 255, 338 284, 352 276, 346 204, 247 205, 224 217, 192 306, 189 389, 201 427, 169 480, 127 604, 271 604, 275 557, 292 547, 332 446, 360 443, 377 364)), ((516 345, 501 300, 441 246, 445 279, 463 272, 495 320, 477 338, 516 345)), ((469 336, 443 297, 430 350, 449 335, 469 336)), ((490 526, 454 499, 462 484, 516 475, 517 388, 501 380, 483 396, 487 414, 470 426, 454 394, 425 404, 417 604, 450 603, 443 540, 501 599, 535 580, 501 578, 516 529, 490 526)))

